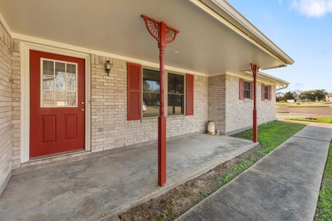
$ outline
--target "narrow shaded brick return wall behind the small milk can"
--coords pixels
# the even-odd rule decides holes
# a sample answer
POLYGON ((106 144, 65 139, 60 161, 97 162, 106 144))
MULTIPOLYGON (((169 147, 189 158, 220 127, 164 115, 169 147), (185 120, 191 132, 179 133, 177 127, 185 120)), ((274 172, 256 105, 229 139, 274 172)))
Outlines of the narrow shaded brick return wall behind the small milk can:
POLYGON ((225 75, 208 78, 208 116, 214 122, 216 130, 225 134, 225 75))

